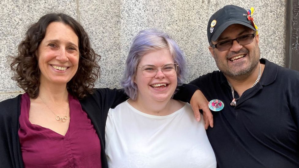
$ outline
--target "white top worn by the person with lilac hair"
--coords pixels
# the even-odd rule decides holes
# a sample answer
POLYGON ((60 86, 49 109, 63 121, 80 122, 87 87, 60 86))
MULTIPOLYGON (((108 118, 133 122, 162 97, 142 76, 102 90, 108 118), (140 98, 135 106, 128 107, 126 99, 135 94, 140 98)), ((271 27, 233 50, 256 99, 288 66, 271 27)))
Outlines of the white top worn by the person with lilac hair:
POLYGON ((111 168, 216 167, 203 119, 196 122, 188 103, 155 116, 123 102, 108 112, 105 139, 111 168))

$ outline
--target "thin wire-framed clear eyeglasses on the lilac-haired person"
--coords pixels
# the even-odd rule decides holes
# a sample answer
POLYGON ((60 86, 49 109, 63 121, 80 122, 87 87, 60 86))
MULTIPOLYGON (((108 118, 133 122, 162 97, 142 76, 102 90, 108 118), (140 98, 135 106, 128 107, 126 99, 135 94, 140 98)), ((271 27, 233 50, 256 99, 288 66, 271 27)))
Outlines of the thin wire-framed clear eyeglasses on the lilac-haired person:
POLYGON ((141 68, 143 76, 147 78, 156 76, 158 68, 161 68, 162 73, 164 73, 166 77, 172 77, 176 74, 178 67, 179 65, 176 63, 165 64, 162 67, 157 67, 156 65, 152 64, 143 64, 141 66, 137 66, 137 68, 141 68))

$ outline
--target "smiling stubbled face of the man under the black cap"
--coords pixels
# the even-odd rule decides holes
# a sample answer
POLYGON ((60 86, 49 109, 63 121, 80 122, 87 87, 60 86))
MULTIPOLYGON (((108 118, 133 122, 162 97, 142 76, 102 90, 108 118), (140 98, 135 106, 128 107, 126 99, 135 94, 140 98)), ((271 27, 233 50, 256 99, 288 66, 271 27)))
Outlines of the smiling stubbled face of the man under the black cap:
MULTIPOLYGON (((212 43, 217 44, 251 33, 253 33, 251 28, 241 24, 232 24, 222 32, 216 42, 212 43)), ((259 35, 254 37, 252 43, 244 46, 234 40, 233 46, 229 50, 218 51, 217 48, 212 47, 209 47, 209 50, 215 59, 218 69, 224 75, 232 78, 247 75, 253 72, 259 63, 259 35)))

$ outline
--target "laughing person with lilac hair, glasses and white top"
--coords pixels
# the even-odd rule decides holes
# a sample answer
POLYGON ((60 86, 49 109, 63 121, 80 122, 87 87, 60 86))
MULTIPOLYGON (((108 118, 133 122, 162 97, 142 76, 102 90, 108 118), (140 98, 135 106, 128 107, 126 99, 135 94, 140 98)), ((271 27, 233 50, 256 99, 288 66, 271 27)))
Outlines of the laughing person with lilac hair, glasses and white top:
POLYGON ((190 104, 172 99, 186 70, 167 34, 138 33, 121 81, 130 99, 108 112, 109 167, 216 167, 203 120, 195 120, 190 104))

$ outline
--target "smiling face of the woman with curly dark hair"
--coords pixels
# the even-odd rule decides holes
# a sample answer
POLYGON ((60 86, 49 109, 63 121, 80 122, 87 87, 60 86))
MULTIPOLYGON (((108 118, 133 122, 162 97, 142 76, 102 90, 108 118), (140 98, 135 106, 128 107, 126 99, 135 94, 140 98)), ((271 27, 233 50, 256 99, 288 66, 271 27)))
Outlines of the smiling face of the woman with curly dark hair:
POLYGON ((41 84, 66 85, 78 69, 78 36, 70 26, 52 22, 38 47, 37 58, 41 84))

